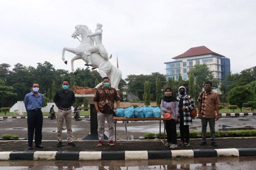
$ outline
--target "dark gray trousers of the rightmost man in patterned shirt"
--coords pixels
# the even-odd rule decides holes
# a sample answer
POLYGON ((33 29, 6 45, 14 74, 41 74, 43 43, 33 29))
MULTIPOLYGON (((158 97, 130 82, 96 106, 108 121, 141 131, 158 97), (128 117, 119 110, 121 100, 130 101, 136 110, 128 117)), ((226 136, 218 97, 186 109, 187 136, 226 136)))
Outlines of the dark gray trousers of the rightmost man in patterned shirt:
POLYGON ((215 142, 215 118, 202 118, 202 142, 206 142, 206 127, 209 122, 211 142, 215 142))

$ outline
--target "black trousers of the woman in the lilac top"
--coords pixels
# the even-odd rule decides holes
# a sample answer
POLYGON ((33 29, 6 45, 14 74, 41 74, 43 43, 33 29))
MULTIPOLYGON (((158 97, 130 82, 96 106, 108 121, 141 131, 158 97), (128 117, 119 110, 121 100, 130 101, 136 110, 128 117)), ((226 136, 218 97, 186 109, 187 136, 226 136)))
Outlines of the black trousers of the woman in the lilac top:
POLYGON ((167 134, 167 142, 177 144, 176 122, 174 119, 165 121, 165 130, 167 134))

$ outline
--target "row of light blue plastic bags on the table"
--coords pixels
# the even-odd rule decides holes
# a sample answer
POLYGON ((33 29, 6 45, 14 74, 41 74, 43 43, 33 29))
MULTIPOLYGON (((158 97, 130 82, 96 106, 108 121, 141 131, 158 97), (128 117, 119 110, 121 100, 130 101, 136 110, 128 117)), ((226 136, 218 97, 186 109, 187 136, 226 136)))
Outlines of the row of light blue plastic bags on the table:
POLYGON ((125 118, 160 118, 161 117, 161 109, 159 107, 151 107, 151 106, 144 106, 144 108, 135 108, 127 107, 126 109, 117 108, 116 109, 116 116, 117 117, 124 117, 125 118))

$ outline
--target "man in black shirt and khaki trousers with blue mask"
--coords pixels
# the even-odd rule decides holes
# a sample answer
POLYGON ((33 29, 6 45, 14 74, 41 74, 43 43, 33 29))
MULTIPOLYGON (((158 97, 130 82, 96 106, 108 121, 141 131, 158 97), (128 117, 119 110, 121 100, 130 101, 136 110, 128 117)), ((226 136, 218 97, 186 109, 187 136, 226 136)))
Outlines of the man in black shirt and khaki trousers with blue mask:
POLYGON ((62 145, 62 127, 64 119, 67 127, 67 136, 68 136, 68 145, 75 146, 76 144, 72 142, 72 109, 71 106, 75 103, 75 94, 73 91, 68 90, 69 80, 63 80, 62 89, 58 90, 54 97, 54 103, 58 107, 58 116, 57 116, 57 138, 58 144, 57 147, 62 145))

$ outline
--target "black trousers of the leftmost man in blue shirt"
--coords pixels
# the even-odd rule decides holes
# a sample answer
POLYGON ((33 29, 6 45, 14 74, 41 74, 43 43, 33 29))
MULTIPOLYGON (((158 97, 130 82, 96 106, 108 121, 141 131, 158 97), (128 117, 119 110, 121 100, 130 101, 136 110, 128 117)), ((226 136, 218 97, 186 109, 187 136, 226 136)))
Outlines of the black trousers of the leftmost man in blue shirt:
POLYGON ((28 146, 33 146, 33 137, 35 133, 35 144, 42 144, 42 127, 43 127, 43 113, 41 110, 28 110, 28 146))

